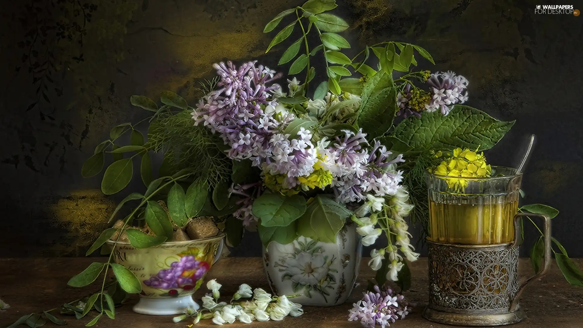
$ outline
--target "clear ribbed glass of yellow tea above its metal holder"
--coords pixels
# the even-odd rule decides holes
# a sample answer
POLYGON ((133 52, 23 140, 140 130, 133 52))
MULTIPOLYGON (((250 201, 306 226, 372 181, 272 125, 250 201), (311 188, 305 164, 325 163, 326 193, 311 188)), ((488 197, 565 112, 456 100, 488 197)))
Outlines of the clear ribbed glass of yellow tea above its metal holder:
POLYGON ((492 166, 490 177, 426 175, 429 240, 454 245, 514 241, 522 173, 492 166))

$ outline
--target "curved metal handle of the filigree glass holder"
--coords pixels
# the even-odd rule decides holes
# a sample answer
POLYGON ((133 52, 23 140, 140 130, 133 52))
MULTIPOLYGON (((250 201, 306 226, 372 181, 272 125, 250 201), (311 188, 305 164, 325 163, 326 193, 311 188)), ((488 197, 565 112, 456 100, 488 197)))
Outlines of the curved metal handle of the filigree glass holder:
POLYGON ((537 213, 518 213, 517 215, 514 215, 514 242, 512 242, 512 244, 510 245, 510 248, 512 247, 517 247, 520 246, 522 244, 522 233, 521 233, 521 219, 522 217, 539 217, 542 218, 544 220, 544 228, 543 228, 543 233, 544 233, 544 247, 545 247, 545 251, 543 253, 543 261, 542 261, 542 265, 540 266, 540 270, 538 273, 536 273, 535 275, 533 275, 532 277, 528 278, 525 282, 522 282, 522 285, 520 285, 520 287, 518 288, 518 291, 516 292, 516 294, 514 295, 514 298, 512 299, 512 302, 510 303, 510 311, 514 311, 516 310, 517 306, 518 306, 518 301, 520 299, 520 296, 522 295, 522 292, 524 291, 524 289, 530 285, 533 281, 538 280, 538 278, 543 277, 547 271, 549 271, 550 268, 550 263, 551 263, 551 253, 552 253, 552 249, 551 249, 551 235, 550 235, 550 217, 546 214, 537 214, 537 213))

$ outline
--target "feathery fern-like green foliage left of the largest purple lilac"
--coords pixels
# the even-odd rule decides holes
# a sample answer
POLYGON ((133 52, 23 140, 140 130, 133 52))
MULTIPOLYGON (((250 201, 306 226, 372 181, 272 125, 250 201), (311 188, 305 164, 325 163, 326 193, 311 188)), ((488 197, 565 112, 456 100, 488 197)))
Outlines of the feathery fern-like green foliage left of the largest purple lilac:
POLYGON ((150 123, 148 148, 164 152, 174 172, 189 169, 210 186, 229 181, 231 160, 224 152, 222 139, 209 128, 195 126, 191 110, 159 113, 150 123))

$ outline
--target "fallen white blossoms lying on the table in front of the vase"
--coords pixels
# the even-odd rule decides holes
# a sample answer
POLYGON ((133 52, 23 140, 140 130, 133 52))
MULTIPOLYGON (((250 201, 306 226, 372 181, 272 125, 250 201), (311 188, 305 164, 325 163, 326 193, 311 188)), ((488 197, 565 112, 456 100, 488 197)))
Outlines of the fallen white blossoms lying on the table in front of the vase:
MULTIPOLYGON (((192 324, 201 319, 212 319, 213 323, 251 323, 257 321, 283 320, 286 316, 300 316, 304 313, 301 304, 291 302, 289 298, 299 295, 272 296, 261 288, 251 291, 251 286, 243 284, 233 295, 231 301, 219 302, 222 287, 215 279, 206 283, 211 292, 202 297, 202 308, 195 310, 188 308, 184 315, 176 316, 172 320, 181 322, 192 318, 192 324)), ((188 325, 192 326, 192 325, 188 325)))

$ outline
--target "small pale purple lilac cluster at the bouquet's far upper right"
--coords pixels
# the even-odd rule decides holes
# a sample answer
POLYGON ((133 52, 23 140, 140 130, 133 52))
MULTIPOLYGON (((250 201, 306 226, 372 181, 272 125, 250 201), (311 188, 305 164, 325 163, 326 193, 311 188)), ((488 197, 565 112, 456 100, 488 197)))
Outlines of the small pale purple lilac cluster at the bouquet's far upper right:
POLYGON ((437 72, 427 79, 430 86, 431 100, 425 105, 427 111, 441 110, 441 114, 449 114, 453 104, 463 104, 468 100, 468 79, 456 75, 452 71, 437 72))

